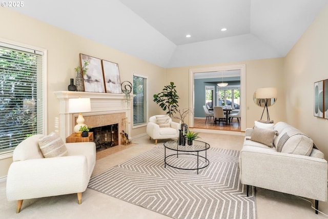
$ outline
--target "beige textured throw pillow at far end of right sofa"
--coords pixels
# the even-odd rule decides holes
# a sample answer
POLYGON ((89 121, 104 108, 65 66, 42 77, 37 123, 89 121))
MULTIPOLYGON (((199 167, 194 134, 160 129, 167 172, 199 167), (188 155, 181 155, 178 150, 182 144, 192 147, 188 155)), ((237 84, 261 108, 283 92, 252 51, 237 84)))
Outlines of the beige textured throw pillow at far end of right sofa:
POLYGON ((271 129, 263 129, 259 127, 254 127, 251 135, 251 140, 253 142, 262 143, 269 147, 273 147, 273 139, 277 131, 271 129))

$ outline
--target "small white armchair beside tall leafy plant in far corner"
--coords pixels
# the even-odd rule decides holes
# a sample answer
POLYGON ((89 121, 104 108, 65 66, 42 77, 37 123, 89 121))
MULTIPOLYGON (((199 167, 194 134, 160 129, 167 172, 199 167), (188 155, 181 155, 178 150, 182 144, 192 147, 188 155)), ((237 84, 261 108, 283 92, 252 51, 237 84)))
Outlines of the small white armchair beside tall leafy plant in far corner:
POLYGON ((179 129, 180 124, 172 122, 172 119, 167 116, 167 126, 168 127, 160 127, 158 125, 157 118, 163 115, 154 115, 149 118, 149 123, 147 124, 147 134, 149 135, 149 139, 153 138, 155 140, 155 144, 157 144, 158 139, 169 139, 169 138, 178 138, 179 137, 179 129))

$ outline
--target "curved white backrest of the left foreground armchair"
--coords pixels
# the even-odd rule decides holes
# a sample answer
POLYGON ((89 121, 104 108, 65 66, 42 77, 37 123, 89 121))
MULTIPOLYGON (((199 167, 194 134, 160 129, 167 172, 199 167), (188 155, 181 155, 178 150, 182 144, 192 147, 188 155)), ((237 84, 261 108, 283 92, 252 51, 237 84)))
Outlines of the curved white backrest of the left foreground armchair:
POLYGON ((25 161, 30 159, 44 158, 38 144, 40 137, 44 135, 36 134, 26 138, 15 148, 12 156, 13 161, 25 161))

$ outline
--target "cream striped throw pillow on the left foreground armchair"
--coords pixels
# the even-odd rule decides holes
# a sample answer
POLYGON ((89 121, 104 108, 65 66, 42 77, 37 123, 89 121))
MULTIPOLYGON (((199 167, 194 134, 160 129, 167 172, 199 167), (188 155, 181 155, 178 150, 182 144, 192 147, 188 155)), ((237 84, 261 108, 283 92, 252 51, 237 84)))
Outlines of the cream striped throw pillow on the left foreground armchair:
POLYGON ((55 132, 39 138, 39 147, 44 157, 66 156, 67 148, 60 136, 55 132))

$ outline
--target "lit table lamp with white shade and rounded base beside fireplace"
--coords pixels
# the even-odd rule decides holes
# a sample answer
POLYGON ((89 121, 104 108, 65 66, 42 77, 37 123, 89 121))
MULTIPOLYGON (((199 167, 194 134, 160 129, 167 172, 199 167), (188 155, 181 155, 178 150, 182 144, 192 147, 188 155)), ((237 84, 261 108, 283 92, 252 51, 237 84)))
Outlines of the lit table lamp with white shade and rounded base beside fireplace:
POLYGON ((83 112, 91 111, 91 103, 90 98, 70 98, 68 99, 69 104, 69 112, 70 113, 79 113, 76 119, 77 125, 74 126, 74 132, 76 136, 81 136, 81 131, 79 130, 81 126, 87 126, 84 124, 84 117, 82 115, 83 112))

